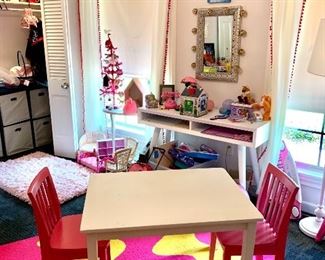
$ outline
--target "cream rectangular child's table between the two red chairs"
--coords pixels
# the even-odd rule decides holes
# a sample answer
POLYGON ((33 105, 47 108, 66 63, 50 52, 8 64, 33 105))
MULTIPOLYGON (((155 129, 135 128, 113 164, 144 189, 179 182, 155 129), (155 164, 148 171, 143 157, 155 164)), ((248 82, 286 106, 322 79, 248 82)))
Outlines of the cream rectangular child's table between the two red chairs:
POLYGON ((262 218, 221 168, 95 174, 81 232, 94 260, 98 240, 241 229, 242 259, 251 260, 262 218))

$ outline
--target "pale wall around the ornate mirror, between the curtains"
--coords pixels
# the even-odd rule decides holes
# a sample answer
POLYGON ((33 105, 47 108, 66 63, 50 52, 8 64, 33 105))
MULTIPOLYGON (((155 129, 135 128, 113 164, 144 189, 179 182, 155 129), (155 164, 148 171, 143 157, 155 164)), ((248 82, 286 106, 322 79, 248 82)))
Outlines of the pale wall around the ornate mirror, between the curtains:
POLYGON ((184 76, 194 76, 195 70, 191 63, 195 62, 195 52, 191 50, 196 45, 196 35, 191 30, 197 27, 197 16, 192 13, 193 8, 209 8, 223 6, 243 6, 247 17, 242 19, 242 29, 247 36, 242 38, 241 47, 246 51, 240 58, 242 73, 238 83, 222 81, 201 81, 201 86, 208 92, 216 106, 227 98, 235 99, 241 93, 241 87, 246 85, 259 99, 264 93, 265 66, 270 4, 261 0, 232 0, 230 4, 208 4, 207 0, 178 0, 177 1, 177 50, 176 50, 176 85, 178 90, 183 89, 180 81, 184 76))

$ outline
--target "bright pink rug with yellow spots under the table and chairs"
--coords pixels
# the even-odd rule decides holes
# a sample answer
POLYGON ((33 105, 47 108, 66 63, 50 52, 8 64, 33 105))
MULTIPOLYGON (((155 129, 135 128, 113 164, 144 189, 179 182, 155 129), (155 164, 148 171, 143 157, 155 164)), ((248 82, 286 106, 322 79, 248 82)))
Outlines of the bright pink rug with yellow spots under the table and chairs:
MULTIPOLYGON (((112 240, 111 256, 112 260, 206 260, 209 242, 210 233, 112 240)), ((0 256, 4 260, 41 260, 38 237, 1 245, 0 256)), ((218 259, 222 259, 220 246, 215 253, 218 259)), ((271 259, 273 256, 264 256, 264 260, 271 259)))

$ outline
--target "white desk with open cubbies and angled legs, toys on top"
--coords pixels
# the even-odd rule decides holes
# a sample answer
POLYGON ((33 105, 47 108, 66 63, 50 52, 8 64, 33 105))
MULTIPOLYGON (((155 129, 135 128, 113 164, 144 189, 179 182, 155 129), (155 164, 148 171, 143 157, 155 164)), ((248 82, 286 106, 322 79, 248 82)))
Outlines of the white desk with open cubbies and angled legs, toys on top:
POLYGON ((249 148, 252 158, 252 166, 256 183, 259 183, 260 170, 257 164, 256 147, 265 143, 269 138, 270 122, 231 122, 228 119, 210 120, 211 117, 218 114, 213 111, 202 117, 190 117, 180 115, 175 110, 161 110, 159 108, 139 108, 138 122, 155 128, 150 144, 150 149, 157 145, 161 129, 176 131, 198 137, 204 137, 210 140, 220 141, 229 144, 235 144, 238 147, 238 171, 239 182, 243 188, 246 188, 246 147, 249 148), (221 136, 202 133, 210 126, 219 126, 228 129, 237 129, 247 131, 252 134, 252 141, 240 141, 221 136))

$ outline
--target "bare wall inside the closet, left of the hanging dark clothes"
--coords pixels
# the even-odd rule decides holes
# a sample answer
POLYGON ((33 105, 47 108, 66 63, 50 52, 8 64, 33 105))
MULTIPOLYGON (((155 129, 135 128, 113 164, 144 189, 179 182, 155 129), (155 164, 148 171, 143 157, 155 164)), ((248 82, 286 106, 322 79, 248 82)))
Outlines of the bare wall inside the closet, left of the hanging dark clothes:
POLYGON ((0 67, 17 65, 16 53, 25 54, 29 30, 20 27, 22 12, 0 12, 0 67))

